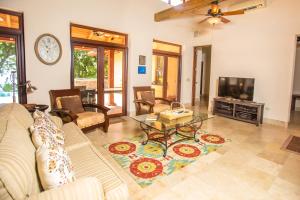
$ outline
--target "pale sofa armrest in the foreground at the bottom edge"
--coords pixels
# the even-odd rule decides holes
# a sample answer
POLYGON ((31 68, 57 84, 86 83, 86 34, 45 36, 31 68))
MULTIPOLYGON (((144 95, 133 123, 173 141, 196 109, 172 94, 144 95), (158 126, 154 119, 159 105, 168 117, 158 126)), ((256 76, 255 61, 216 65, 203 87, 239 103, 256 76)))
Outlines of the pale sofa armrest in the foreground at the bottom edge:
POLYGON ((59 188, 33 195, 28 200, 103 200, 102 184, 97 178, 87 177, 59 188))

